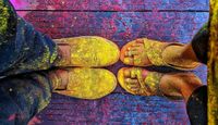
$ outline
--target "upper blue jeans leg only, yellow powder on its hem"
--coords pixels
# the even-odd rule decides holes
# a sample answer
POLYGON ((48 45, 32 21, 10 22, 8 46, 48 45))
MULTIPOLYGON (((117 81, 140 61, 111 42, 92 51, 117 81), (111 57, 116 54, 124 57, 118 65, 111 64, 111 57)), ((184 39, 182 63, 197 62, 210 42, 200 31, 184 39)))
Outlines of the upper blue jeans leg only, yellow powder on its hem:
POLYGON ((0 0, 0 76, 51 67, 57 45, 17 17, 8 0, 0 0))

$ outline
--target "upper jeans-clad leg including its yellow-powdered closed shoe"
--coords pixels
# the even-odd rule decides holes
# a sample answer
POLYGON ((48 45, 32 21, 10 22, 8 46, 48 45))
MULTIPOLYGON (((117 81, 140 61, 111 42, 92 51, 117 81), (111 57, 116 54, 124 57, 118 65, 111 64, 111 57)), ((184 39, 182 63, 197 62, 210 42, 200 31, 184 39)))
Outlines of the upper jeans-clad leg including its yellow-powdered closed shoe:
POLYGON ((48 70, 51 66, 108 66, 119 60, 119 48, 110 40, 94 36, 51 40, 17 17, 9 0, 1 2, 1 8, 10 12, 2 16, 0 11, 0 17, 9 25, 0 27, 0 76, 48 70), (10 21, 16 22, 13 34, 10 34, 10 21), (9 34, 10 38, 3 37, 9 34))

